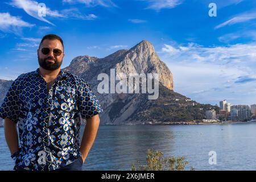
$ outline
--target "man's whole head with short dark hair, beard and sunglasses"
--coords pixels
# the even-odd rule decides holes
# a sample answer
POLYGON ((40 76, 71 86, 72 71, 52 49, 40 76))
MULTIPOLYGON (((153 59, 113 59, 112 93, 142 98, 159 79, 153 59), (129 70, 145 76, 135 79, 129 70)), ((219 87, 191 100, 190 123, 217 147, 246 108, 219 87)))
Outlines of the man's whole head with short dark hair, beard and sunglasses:
POLYGON ((55 35, 48 34, 43 37, 38 49, 38 63, 47 70, 60 68, 64 57, 63 40, 55 35))

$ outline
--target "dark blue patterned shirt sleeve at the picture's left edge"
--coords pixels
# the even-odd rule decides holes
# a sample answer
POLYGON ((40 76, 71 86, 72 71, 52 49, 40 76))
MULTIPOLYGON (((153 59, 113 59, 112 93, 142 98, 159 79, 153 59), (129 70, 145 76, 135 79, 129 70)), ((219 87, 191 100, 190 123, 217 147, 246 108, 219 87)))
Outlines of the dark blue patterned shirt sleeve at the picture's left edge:
POLYGON ((0 106, 0 117, 5 119, 9 118, 15 123, 18 122, 20 113, 20 101, 19 101, 19 89, 20 84, 18 78, 14 80, 8 90, 2 105, 0 106))

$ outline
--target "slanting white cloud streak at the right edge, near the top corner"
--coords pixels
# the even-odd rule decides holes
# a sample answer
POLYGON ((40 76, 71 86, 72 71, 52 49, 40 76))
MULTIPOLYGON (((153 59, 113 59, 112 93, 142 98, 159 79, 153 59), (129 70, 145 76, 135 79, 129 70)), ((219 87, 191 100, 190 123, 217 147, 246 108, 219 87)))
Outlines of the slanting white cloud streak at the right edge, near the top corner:
POLYGON ((237 16, 234 16, 234 18, 229 19, 224 23, 218 24, 218 26, 214 27, 214 29, 225 27, 227 25, 248 22, 253 19, 256 19, 256 13, 245 13, 245 14, 237 15, 237 16))

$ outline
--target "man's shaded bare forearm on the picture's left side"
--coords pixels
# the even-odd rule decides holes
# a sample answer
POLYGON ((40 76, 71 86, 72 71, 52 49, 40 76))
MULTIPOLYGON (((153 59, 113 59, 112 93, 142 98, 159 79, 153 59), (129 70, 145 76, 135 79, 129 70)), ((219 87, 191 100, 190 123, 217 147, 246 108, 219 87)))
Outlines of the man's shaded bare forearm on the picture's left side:
POLYGON ((16 123, 11 121, 9 118, 5 118, 5 139, 11 155, 19 150, 18 133, 16 130, 16 123))

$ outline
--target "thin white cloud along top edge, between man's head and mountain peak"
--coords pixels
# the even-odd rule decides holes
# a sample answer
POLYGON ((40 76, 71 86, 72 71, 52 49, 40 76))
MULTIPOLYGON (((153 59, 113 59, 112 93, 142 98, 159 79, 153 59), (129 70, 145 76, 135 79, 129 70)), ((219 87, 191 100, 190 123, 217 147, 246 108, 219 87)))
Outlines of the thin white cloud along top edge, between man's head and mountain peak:
POLYGON ((111 0, 63 0, 63 3, 83 3, 87 7, 117 7, 117 5, 115 5, 111 0))

